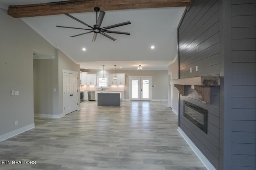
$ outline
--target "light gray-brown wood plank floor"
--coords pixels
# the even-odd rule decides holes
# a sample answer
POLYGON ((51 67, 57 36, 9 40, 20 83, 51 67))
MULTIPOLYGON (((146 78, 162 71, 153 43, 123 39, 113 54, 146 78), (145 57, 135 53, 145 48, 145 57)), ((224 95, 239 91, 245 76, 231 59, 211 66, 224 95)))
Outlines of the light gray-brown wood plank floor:
POLYGON ((60 119, 35 117, 35 128, 0 142, 0 170, 206 170, 177 131, 166 102, 83 102, 60 119))

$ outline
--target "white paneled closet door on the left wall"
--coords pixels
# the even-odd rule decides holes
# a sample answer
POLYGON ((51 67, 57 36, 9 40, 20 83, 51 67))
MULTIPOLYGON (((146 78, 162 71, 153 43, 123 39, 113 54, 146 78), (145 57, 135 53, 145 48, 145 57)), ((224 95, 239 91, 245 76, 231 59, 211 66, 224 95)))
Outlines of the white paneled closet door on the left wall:
POLYGON ((63 113, 78 109, 78 74, 63 73, 63 113))

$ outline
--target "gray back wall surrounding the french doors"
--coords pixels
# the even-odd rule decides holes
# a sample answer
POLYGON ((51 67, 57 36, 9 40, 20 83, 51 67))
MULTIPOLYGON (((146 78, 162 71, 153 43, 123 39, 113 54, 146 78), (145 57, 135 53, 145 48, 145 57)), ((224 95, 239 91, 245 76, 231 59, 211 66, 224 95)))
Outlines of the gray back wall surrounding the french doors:
MULTIPOLYGON (((89 73, 102 75, 101 71, 87 70, 89 73)), ((114 73, 106 70, 105 75, 114 73)), ((152 100, 168 100, 168 71, 167 70, 116 70, 116 73, 125 73, 125 99, 129 99, 129 76, 152 76, 152 100)))

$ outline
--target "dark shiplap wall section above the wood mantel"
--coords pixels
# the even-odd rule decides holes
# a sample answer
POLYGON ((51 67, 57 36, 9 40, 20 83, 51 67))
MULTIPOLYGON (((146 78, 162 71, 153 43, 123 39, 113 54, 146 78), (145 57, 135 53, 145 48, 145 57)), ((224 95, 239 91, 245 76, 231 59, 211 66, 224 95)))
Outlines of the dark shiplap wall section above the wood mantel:
POLYGON ((180 78, 219 75, 218 0, 195 0, 178 33, 180 78), (195 71, 196 65, 198 72, 195 71))

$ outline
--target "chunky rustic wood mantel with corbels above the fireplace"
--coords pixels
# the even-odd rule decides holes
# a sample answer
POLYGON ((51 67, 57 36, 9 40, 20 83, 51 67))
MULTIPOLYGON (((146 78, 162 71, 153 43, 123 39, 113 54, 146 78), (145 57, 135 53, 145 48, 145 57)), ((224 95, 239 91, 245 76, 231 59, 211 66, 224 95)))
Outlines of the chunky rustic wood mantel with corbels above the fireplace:
POLYGON ((202 76, 170 80, 178 92, 185 96, 185 85, 191 85, 196 90, 198 97, 203 103, 210 104, 211 86, 220 86, 219 76, 202 76))

